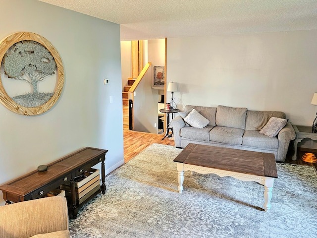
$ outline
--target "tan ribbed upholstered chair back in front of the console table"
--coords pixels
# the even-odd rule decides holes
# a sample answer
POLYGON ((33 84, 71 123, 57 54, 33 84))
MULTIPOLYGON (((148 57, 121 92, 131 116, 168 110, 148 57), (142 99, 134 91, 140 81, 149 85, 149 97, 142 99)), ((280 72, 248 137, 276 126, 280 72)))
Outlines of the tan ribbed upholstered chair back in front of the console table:
POLYGON ((0 237, 29 238, 68 229, 65 197, 46 197, 0 206, 0 237))

